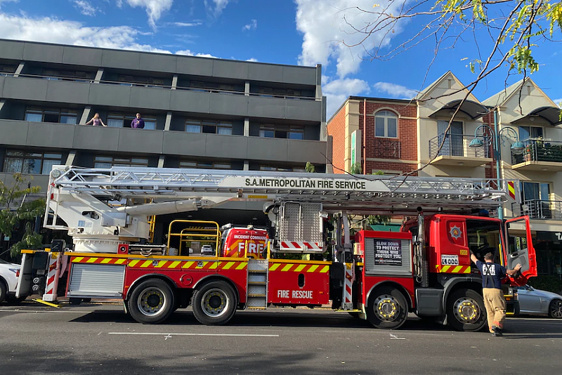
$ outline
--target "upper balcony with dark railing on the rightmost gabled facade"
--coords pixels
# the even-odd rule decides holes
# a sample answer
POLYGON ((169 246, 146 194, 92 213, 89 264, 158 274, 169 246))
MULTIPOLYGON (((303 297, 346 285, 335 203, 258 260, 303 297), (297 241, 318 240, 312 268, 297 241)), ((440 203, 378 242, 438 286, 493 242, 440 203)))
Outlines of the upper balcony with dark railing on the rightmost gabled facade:
POLYGON ((513 169, 519 171, 562 171, 562 142, 528 139, 522 154, 511 155, 513 169))

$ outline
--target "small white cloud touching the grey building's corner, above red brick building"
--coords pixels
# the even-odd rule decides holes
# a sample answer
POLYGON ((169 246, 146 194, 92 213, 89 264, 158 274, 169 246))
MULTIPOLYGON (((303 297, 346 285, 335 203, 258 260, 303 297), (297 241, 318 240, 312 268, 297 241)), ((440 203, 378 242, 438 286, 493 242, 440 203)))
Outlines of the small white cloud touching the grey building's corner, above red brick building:
POLYGON ((322 95, 326 96, 326 115, 329 119, 339 106, 344 103, 348 96, 358 96, 370 92, 369 84, 358 78, 339 78, 333 81, 329 77, 322 76, 322 95))

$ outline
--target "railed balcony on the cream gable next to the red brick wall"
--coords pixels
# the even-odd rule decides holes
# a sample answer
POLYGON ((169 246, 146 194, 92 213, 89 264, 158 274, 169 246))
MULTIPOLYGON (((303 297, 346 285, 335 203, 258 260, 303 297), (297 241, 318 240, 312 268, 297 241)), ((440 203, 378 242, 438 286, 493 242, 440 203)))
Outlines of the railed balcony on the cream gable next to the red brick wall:
MULTIPOLYGON (((474 136, 439 134, 429 140, 429 159, 436 166, 481 166, 492 162, 490 147, 469 147, 474 136)), ((486 142, 484 142, 486 144, 486 142)))

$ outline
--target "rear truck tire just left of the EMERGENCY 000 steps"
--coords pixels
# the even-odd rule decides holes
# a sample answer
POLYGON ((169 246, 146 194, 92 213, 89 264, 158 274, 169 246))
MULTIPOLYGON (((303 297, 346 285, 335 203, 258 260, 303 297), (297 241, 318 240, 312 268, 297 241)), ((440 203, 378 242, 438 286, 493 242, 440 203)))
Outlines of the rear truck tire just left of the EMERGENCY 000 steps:
POLYGON ((195 289, 191 305, 200 323, 226 324, 236 312, 236 294, 228 282, 209 282, 195 289))

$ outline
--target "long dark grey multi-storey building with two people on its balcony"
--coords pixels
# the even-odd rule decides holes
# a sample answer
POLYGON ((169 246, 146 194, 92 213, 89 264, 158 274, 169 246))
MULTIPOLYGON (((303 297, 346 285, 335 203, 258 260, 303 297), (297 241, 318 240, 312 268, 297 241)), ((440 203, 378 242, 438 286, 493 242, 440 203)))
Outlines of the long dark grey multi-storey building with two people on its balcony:
MULTIPOLYGON (((54 164, 322 172, 321 77, 320 65, 0 39, 0 180, 46 188, 54 164), (144 129, 130 127, 137 112, 144 129), (84 125, 96 113, 107 127, 84 125)), ((230 214, 249 223, 254 206, 227 207, 255 209, 230 214)))

